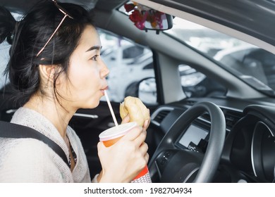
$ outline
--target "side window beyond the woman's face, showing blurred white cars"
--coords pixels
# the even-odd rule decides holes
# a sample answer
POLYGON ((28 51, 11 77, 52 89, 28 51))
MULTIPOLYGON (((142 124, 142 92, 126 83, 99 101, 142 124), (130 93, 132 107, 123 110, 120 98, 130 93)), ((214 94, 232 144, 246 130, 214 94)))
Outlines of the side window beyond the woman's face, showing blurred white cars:
MULTIPOLYGON (((107 77, 110 101, 122 102, 126 96, 138 96, 140 81, 154 77, 152 51, 114 33, 102 29, 98 32, 102 42, 102 59, 110 70, 107 77)), ((104 99, 102 97, 102 101, 104 99)), ((149 99, 143 101, 151 103, 149 99)), ((154 99, 156 102, 157 99, 154 99)))

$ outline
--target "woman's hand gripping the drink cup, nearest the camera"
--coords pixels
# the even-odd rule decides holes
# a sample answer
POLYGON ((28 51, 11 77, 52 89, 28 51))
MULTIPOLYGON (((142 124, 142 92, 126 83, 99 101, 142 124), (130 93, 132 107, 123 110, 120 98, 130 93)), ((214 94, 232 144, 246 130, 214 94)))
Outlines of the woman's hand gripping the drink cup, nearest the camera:
MULTIPOLYGON (((127 122, 127 120, 124 120, 127 122)), ((125 122, 124 122, 125 123, 125 122)), ((147 121, 149 125, 149 121, 147 121)), ((97 144, 102 172, 98 182, 130 182, 147 165, 148 146, 144 142, 146 130, 134 127, 113 146, 106 148, 102 141, 97 144)))

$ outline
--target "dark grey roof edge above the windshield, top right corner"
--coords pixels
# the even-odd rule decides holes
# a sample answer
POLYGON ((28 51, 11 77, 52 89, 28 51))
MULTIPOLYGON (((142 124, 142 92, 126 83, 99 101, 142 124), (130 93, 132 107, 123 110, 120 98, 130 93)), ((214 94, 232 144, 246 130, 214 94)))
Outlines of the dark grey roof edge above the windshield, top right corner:
MULTIPOLYGON (((231 27, 275 46, 274 0, 151 0, 231 27)), ((203 25, 203 24, 201 24, 203 25)), ((275 51, 273 51, 275 53, 275 51)))

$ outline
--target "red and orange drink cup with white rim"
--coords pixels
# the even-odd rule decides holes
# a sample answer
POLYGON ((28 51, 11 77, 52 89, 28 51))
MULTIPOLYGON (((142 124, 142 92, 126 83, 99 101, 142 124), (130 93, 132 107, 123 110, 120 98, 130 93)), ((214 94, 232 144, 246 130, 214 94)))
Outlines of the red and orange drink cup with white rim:
MULTIPOLYGON (((99 134, 99 140, 103 142, 104 146, 109 147, 116 144, 116 141, 121 139, 130 129, 137 125, 136 122, 128 122, 117 127, 111 127, 99 134)), ((135 179, 133 183, 152 183, 148 167, 146 166, 135 179)))

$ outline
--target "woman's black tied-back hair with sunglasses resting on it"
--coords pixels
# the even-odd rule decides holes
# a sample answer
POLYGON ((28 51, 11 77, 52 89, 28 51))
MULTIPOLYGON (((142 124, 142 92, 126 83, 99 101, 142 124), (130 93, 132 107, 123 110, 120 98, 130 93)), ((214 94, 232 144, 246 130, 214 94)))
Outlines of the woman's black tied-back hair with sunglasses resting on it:
MULTIPOLYGON (((54 74, 54 94, 56 80, 65 72, 68 74, 68 63, 71 54, 78 46, 79 39, 87 25, 93 25, 92 15, 82 6, 58 3, 71 15, 66 17, 42 53, 42 49, 61 22, 64 14, 53 1, 39 1, 22 20, 16 22, 11 13, 0 7, 0 43, 6 39, 11 44, 10 59, 6 67, 6 75, 11 86, 16 89, 16 98, 20 105, 30 99, 32 94, 40 91, 38 65, 59 65, 54 74)), ((56 96, 57 98, 57 96, 56 96)))

